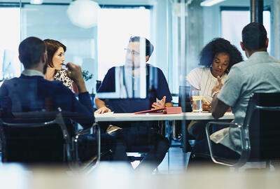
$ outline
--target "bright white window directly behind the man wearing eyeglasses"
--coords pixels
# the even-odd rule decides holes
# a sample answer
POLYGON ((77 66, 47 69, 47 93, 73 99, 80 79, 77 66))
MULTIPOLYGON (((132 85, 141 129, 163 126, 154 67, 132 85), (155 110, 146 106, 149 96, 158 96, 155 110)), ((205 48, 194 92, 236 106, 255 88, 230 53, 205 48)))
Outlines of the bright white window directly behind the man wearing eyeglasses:
POLYGON ((112 66, 125 62, 130 36, 150 39, 150 10, 138 8, 101 8, 98 13, 98 79, 103 80, 112 66))

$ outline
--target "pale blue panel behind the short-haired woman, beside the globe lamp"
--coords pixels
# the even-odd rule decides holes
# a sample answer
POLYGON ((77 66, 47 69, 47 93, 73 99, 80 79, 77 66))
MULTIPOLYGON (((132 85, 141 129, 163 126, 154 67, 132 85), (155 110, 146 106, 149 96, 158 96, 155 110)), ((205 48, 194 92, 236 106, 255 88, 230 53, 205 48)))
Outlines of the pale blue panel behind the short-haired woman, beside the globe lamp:
POLYGON ((97 80, 97 27, 84 29, 73 25, 67 15, 68 7, 68 3, 22 6, 22 39, 52 38, 66 45, 64 63, 73 62, 93 73, 93 78, 85 82, 87 90, 92 92, 97 80))

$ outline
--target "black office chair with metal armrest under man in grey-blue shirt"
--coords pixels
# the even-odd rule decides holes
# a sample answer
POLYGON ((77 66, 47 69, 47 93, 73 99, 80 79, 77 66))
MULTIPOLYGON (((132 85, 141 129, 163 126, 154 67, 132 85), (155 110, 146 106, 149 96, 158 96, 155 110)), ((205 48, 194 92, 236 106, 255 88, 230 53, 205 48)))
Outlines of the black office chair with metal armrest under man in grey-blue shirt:
POLYGON ((206 127, 211 159, 221 165, 241 167, 246 162, 280 160, 280 93, 251 94, 244 125, 209 122, 206 127), (216 157, 210 141, 209 127, 229 125, 240 130, 241 156, 236 162, 216 157))

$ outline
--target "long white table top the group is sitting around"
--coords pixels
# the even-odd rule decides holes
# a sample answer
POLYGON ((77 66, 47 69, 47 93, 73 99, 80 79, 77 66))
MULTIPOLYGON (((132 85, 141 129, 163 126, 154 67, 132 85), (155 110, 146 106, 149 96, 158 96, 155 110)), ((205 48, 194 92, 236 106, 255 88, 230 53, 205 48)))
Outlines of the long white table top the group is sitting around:
MULTIPOLYGON (((94 113, 95 121, 146 121, 146 120, 214 120, 211 113, 177 113, 177 114, 134 114, 134 113, 94 113)), ((220 118, 223 120, 233 120, 233 113, 225 113, 220 118)))

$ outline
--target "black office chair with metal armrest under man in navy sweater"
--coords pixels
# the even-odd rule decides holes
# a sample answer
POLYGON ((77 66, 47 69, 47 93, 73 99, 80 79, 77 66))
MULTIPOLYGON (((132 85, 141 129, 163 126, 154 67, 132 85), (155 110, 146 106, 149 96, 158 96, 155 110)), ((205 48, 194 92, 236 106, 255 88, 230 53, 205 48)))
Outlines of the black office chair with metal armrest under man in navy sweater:
MULTIPOLYGON (((62 111, 18 113, 16 115, 18 118, 0 120, 2 162, 22 162, 26 165, 66 164, 71 169, 78 167, 80 165, 77 151, 78 137, 90 128, 75 134, 73 125, 64 122, 65 115, 69 113, 62 111)), ((98 154, 93 159, 98 164, 99 130, 97 141, 98 154)), ((86 162, 82 168, 88 171, 94 163, 92 160, 86 162)))

